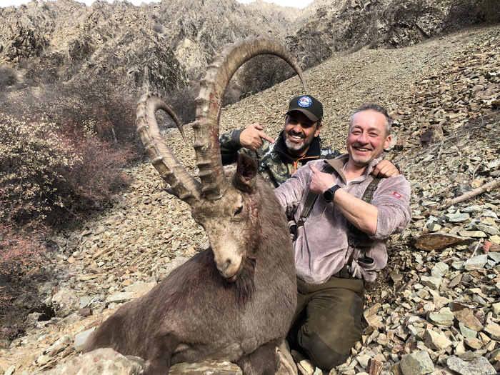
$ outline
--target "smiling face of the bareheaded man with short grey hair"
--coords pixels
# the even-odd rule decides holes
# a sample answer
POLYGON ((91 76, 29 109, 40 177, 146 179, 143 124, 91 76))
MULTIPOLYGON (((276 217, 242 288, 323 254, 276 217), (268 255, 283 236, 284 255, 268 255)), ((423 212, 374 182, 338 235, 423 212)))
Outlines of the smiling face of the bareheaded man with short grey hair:
POLYGON ((354 114, 347 135, 349 161, 355 166, 367 166, 391 144, 386 136, 386 117, 377 111, 366 110, 354 114))

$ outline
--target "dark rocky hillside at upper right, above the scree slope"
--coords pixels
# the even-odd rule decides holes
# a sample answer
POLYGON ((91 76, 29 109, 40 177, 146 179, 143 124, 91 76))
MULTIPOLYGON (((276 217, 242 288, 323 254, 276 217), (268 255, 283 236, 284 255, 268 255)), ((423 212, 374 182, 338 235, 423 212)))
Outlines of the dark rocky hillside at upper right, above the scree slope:
POLYGON ((304 66, 314 66, 339 51, 400 48, 484 21, 498 21, 495 1, 347 0, 313 1, 304 22, 287 37, 304 66), (484 4, 484 7, 483 5, 484 4))

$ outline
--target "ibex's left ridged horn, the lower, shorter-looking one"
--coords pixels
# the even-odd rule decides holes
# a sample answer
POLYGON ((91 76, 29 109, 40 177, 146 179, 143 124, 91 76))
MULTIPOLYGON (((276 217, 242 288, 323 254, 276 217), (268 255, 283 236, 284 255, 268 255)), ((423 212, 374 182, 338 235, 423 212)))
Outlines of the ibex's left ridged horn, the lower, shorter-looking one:
POLYGON ((201 196, 201 184, 184 169, 174 153, 166 146, 156 122, 156 111, 163 109, 175 121, 181 131, 182 138, 186 141, 182 125, 171 109, 158 94, 147 93, 141 96, 137 104, 137 133, 142 144, 160 176, 170 184, 172 191, 188 204, 198 201, 201 196))

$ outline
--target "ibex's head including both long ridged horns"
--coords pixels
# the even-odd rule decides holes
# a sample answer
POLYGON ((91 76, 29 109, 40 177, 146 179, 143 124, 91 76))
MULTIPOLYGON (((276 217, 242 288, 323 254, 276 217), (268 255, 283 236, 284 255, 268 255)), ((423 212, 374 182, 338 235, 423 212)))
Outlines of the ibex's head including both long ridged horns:
POLYGON ((191 216, 207 231, 217 269, 230 282, 236 281, 246 261, 252 258, 260 234, 257 218, 262 197, 256 189, 257 165, 249 156, 241 155, 236 167, 223 169, 219 118, 229 80, 245 61, 259 54, 274 54, 287 61, 307 91, 294 57, 275 41, 249 37, 226 46, 207 67, 196 98, 196 121, 192 126, 201 181, 181 166, 160 135, 155 114, 164 109, 184 137, 174 111, 160 96, 151 93, 141 97, 137 108, 137 131, 151 163, 173 193, 191 206, 191 216))

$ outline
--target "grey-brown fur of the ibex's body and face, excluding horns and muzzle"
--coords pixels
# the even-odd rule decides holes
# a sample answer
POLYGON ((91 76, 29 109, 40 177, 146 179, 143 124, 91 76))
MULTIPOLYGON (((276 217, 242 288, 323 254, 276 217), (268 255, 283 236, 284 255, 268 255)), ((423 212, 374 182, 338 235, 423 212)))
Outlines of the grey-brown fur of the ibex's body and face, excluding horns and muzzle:
POLYGON ((148 294, 121 306, 91 334, 84 352, 111 347, 140 356, 147 374, 154 375, 167 374, 172 364, 207 358, 234 361, 245 375, 274 374, 274 351, 296 306, 288 226, 253 160, 240 157, 244 175, 230 169, 226 176, 240 189, 230 186, 218 201, 200 201, 192 206, 192 215, 211 242, 219 237, 240 246, 244 266, 236 282, 221 276, 212 249, 202 251, 148 294), (235 219, 237 196, 243 207, 235 219))

